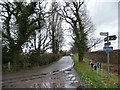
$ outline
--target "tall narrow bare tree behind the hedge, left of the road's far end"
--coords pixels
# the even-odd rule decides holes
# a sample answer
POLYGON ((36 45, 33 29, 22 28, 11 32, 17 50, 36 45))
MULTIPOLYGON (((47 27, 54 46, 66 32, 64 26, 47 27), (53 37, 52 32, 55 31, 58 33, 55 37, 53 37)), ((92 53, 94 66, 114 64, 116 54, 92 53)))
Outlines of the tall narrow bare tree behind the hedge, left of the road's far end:
POLYGON ((55 1, 52 2, 50 8, 51 14, 49 18, 50 25, 50 38, 51 38, 51 48, 53 53, 58 53, 63 45, 63 29, 62 29, 62 17, 58 14, 60 11, 59 4, 55 1))

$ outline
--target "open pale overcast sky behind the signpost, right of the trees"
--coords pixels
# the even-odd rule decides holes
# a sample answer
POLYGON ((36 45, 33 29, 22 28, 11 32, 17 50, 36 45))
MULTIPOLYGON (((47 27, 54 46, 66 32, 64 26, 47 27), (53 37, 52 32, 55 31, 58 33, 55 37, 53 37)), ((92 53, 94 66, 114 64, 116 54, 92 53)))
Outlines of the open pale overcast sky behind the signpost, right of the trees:
MULTIPOLYGON (((100 32, 109 32, 109 35, 117 35, 118 37, 118 1, 119 0, 87 0, 87 9, 89 16, 96 28, 95 37, 100 36, 100 32)), ((102 45, 93 48, 92 50, 102 50, 102 45)), ((118 38, 111 41, 113 49, 118 49, 118 38)))

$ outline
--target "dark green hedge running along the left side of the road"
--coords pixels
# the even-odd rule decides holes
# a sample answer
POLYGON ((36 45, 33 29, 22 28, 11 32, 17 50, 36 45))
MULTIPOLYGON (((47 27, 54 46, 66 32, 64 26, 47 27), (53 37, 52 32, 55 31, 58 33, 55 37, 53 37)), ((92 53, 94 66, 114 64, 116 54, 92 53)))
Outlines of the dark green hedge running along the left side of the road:
MULTIPOLYGON (((20 55, 16 59, 16 64, 11 63, 11 70, 18 71, 20 69, 27 69, 36 66, 42 66, 50 64, 59 60, 62 55, 60 54, 32 54, 32 55, 20 55)), ((7 70, 7 63, 4 64, 4 70, 7 70)))

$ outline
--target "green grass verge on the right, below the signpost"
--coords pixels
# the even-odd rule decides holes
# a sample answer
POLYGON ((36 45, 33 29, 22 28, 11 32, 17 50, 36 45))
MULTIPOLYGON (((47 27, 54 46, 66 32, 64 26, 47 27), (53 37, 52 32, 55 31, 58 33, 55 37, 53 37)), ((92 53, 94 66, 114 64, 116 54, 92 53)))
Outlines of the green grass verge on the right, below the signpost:
POLYGON ((85 82, 88 88, 118 88, 118 76, 112 74, 109 81, 107 80, 107 72, 103 70, 103 76, 98 75, 92 68, 90 68, 88 59, 78 62, 77 54, 74 55, 74 68, 80 76, 81 80, 85 82))

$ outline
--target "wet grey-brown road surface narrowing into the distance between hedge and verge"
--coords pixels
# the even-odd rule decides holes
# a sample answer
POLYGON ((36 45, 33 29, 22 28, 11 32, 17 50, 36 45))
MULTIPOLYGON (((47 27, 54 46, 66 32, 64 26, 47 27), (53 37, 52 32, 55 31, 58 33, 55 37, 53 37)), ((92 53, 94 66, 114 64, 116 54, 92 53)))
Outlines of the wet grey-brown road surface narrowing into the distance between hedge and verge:
POLYGON ((70 56, 36 71, 3 75, 2 88, 84 88, 70 56))

